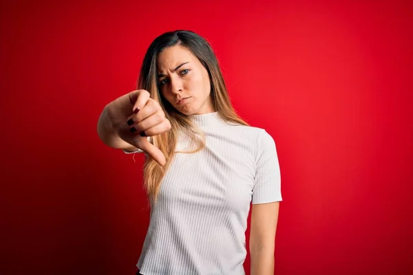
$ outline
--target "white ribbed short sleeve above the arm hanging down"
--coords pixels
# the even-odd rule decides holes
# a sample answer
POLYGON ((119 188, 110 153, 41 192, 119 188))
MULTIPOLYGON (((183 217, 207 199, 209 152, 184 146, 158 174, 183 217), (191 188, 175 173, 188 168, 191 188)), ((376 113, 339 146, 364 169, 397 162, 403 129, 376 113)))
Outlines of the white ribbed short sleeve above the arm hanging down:
POLYGON ((282 201, 281 173, 273 137, 262 131, 257 144, 252 203, 282 201))

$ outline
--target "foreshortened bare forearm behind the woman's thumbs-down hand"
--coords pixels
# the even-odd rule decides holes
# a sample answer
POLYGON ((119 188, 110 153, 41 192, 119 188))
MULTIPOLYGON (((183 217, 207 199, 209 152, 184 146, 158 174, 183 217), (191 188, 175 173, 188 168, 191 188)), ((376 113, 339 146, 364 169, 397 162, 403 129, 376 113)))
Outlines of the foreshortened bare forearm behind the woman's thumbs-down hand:
POLYGON ((98 136, 104 144, 112 148, 124 149, 127 151, 135 151, 137 148, 122 140, 118 134, 112 129, 109 117, 107 115, 107 107, 103 108, 97 125, 98 136))

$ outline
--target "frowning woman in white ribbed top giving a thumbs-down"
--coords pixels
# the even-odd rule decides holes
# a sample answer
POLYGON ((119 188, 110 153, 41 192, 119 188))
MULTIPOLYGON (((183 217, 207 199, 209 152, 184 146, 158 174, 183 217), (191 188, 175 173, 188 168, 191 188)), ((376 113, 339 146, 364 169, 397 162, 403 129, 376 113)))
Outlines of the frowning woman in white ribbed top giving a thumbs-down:
POLYGON ((145 55, 139 89, 103 109, 100 139, 145 152, 151 219, 138 274, 273 274, 280 190, 275 142, 234 111, 209 43, 167 32, 145 55))

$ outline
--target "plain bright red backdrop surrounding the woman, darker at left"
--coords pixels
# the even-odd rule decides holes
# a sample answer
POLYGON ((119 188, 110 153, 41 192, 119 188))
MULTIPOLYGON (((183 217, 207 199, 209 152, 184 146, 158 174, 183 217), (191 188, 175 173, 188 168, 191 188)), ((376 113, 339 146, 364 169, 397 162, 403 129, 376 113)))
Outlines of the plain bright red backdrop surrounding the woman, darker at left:
POLYGON ((409 1, 37 2, 0 7, 2 274, 134 274, 142 156, 96 122, 178 28, 277 143, 275 274, 412 274, 409 1))

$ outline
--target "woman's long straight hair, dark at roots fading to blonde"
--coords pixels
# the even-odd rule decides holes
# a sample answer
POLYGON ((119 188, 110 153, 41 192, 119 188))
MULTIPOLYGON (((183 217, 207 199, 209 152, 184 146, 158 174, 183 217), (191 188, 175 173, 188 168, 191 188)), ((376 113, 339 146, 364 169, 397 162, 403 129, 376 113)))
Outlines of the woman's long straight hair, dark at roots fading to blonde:
POLYGON ((166 118, 171 122, 171 129, 160 135, 151 137, 153 145, 157 146, 165 155, 166 164, 160 166, 149 155, 144 164, 144 184, 147 195, 151 201, 156 201, 162 178, 165 176, 176 150, 178 133, 186 132, 191 140, 195 142, 195 150, 182 153, 195 153, 205 146, 204 134, 193 124, 187 115, 177 111, 162 96, 158 87, 158 74, 156 58, 166 47, 182 45, 187 47, 191 53, 198 58, 200 63, 207 69, 211 83, 211 100, 220 117, 226 122, 248 125, 240 118, 232 107, 231 100, 226 89, 224 78, 218 60, 211 45, 202 36, 188 30, 176 30, 165 32, 158 36, 149 46, 143 59, 138 79, 138 89, 145 89, 151 94, 151 98, 159 102, 166 118), (199 138, 201 137, 201 138, 199 138))

